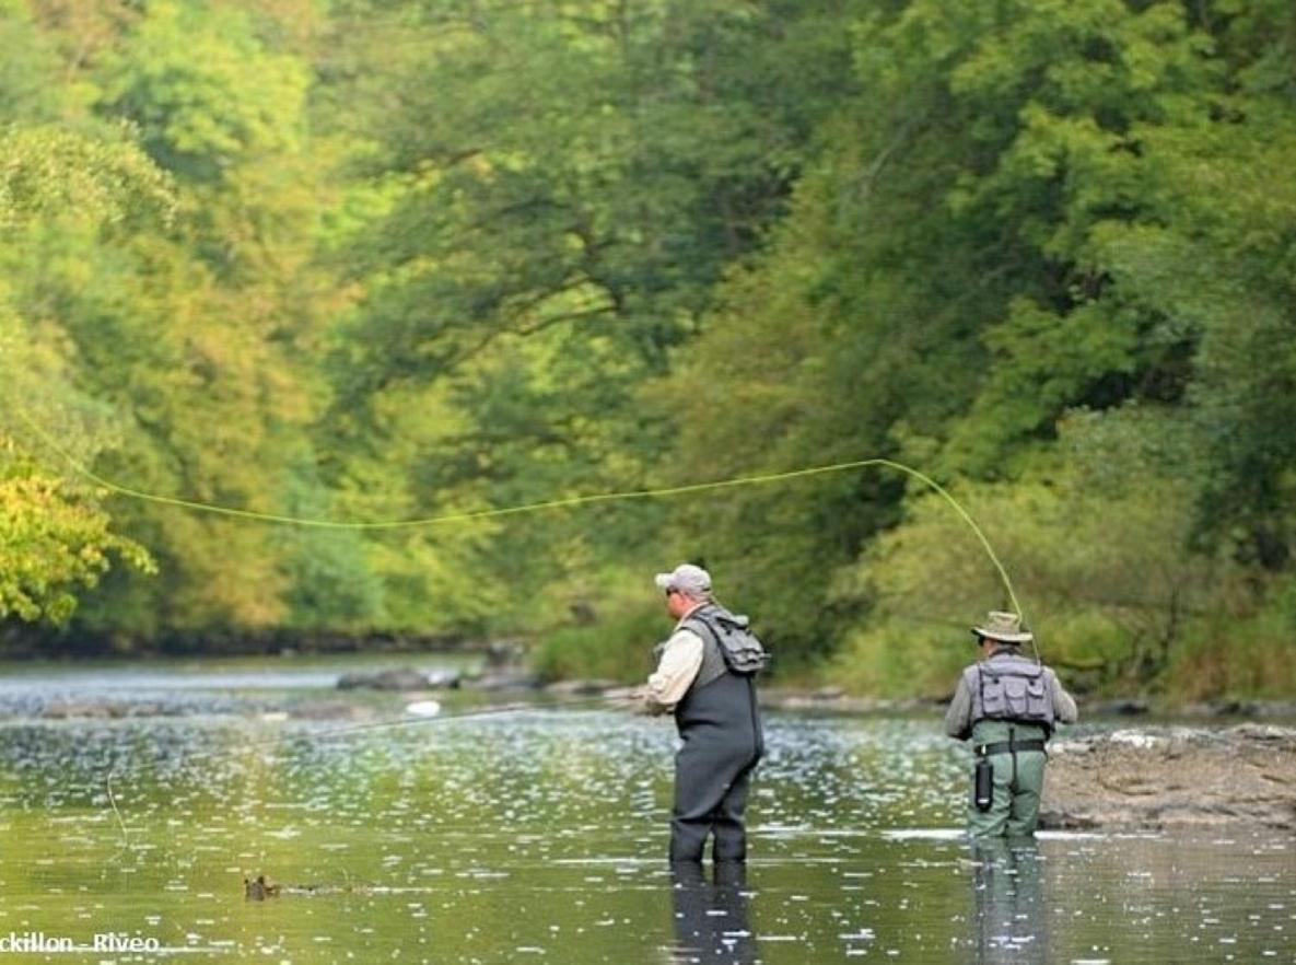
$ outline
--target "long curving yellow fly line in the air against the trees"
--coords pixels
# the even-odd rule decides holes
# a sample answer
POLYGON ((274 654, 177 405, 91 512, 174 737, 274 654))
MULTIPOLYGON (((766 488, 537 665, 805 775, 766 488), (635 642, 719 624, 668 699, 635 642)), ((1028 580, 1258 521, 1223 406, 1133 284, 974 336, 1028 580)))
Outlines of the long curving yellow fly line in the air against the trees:
POLYGON ((159 495, 157 493, 146 493, 140 489, 132 489, 131 486, 124 486, 114 482, 110 479, 105 479, 96 473, 89 467, 84 466, 76 459, 71 453, 69 453, 64 446, 61 446, 54 438, 49 436, 40 425, 35 423, 25 411, 21 409, 14 409, 18 416, 27 424, 27 427, 40 438, 44 445, 47 445, 52 451, 57 453, 58 457, 67 463, 78 475, 86 477, 87 480, 95 482, 104 489, 117 493, 119 495, 126 495, 132 499, 141 499, 152 503, 161 503, 163 506, 176 506, 185 510, 194 510, 197 512, 210 512, 220 516, 233 516, 236 519, 257 520, 260 523, 279 523, 283 525, 295 525, 295 527, 315 527, 321 529, 415 529, 421 527, 442 527, 452 525, 455 523, 470 523, 483 519, 500 519, 504 516, 521 516, 530 512, 540 512, 543 510, 561 510, 561 508, 574 508, 578 506, 592 506, 595 503, 612 503, 612 502, 629 502, 631 499, 664 499, 675 495, 686 495, 692 493, 710 493, 721 489, 736 489, 739 486, 756 486, 767 485, 771 482, 787 482, 794 479, 809 479, 811 476, 824 476, 832 472, 845 472, 848 470, 863 470, 868 467, 885 467, 889 470, 896 470, 897 472, 903 472, 905 475, 916 479, 919 482, 924 484, 933 492, 936 492, 950 507, 959 515, 959 518, 967 523, 968 528, 976 534, 980 541, 981 547, 985 550, 990 562, 994 563, 994 568, 999 573, 999 578, 1003 581, 1003 589, 1008 594, 1008 599, 1012 601, 1012 608, 1016 614, 1025 616, 1021 610, 1021 604, 1017 602, 1017 594, 1012 589, 1012 580, 1008 578, 1008 571, 1003 568, 1003 563, 999 562, 998 554, 990 545, 981 527, 976 524, 972 515, 959 505, 958 499, 950 495, 946 489, 937 482, 931 476, 919 472, 911 466, 905 466, 894 459, 851 459, 849 462, 831 463, 828 466, 810 466, 800 470, 787 470, 784 472, 765 472, 756 473, 752 476, 735 476, 731 479, 713 480, 709 482, 689 482, 678 486, 660 486, 654 489, 627 489, 614 493, 595 493, 592 495, 572 495, 564 497, 561 499, 543 499, 540 502, 521 503, 517 506, 503 506, 492 510, 473 510, 469 512, 448 512, 437 516, 420 516, 415 519, 400 519, 400 520, 377 520, 377 521, 356 521, 356 520, 337 520, 337 519, 318 519, 310 516, 289 516, 275 512, 258 512, 255 510, 242 510, 233 506, 216 506, 213 503, 198 502, 194 499, 180 499, 172 495, 159 495))

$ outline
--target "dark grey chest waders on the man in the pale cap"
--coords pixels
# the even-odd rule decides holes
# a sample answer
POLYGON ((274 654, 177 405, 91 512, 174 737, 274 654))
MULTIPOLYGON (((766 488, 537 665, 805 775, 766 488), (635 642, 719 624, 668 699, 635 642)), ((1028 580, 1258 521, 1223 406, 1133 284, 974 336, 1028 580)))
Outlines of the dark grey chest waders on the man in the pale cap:
POLYGON ((683 746, 675 755, 670 860, 701 861, 714 835, 717 861, 741 861, 748 789, 765 737, 756 680, 730 671, 714 639, 702 637, 702 665, 675 706, 675 725, 683 746))

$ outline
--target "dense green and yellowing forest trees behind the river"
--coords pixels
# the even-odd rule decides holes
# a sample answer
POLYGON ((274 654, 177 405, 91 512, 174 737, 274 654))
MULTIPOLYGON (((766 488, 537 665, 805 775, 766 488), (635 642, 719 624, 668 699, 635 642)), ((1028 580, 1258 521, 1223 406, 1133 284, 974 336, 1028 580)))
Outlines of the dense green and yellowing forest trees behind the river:
POLYGON ((0 0, 0 617, 40 652, 521 637, 642 674, 1296 689, 1296 6, 0 0), (51 444, 51 440, 56 445, 51 444))

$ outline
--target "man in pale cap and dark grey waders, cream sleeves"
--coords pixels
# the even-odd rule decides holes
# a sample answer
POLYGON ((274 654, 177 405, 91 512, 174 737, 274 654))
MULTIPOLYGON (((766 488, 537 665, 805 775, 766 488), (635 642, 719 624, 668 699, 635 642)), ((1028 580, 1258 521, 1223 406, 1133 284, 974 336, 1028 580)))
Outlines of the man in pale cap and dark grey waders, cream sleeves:
POLYGON ((656 584, 677 623, 657 647, 645 702, 654 713, 674 711, 684 742, 675 755, 670 860, 701 861, 714 833, 714 860, 743 861, 746 791, 765 747, 754 674, 767 656, 746 617, 715 602, 701 567, 684 563, 657 573, 656 584))

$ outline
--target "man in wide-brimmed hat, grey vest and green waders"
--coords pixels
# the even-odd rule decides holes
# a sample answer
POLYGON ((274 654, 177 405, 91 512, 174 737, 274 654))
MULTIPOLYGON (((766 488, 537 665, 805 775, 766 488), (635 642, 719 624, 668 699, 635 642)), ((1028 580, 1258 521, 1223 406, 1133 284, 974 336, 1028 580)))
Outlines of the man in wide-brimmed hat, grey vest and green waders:
POLYGON ((1034 636, 1016 614, 991 611, 972 636, 981 659, 964 668, 945 715, 945 733, 972 739, 973 791, 968 831, 978 838, 1030 835, 1055 724, 1076 722, 1076 702, 1058 676, 1023 656, 1034 636))

